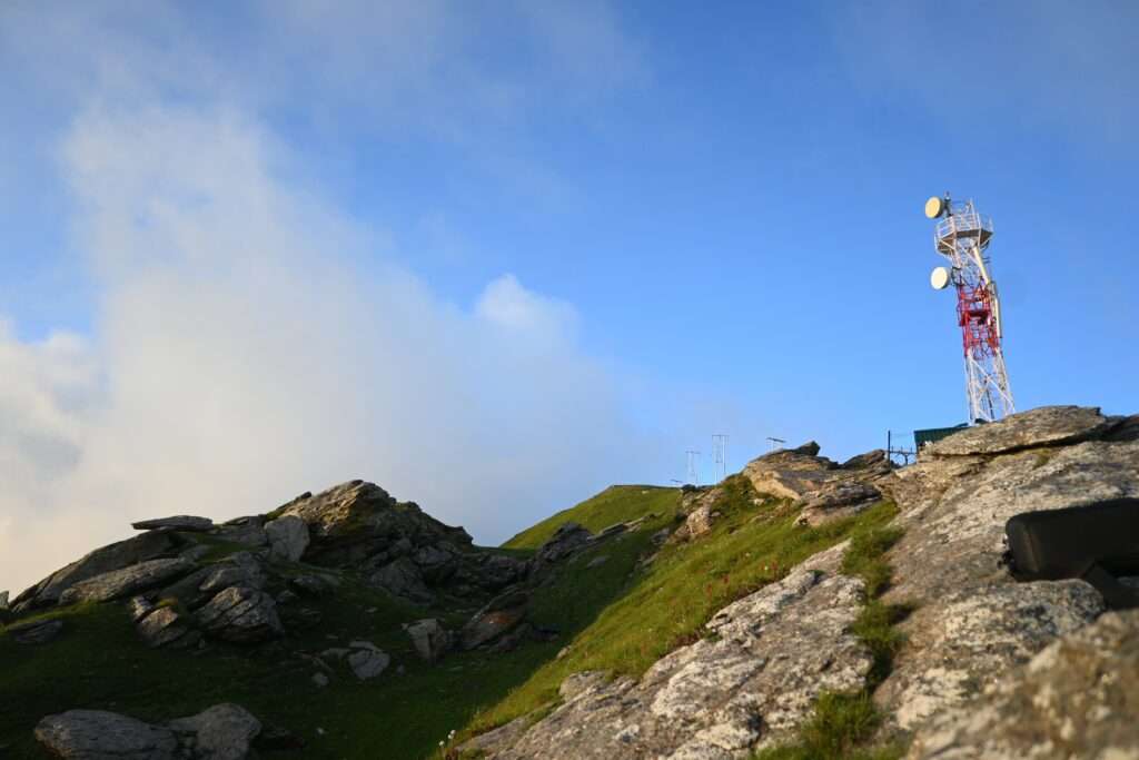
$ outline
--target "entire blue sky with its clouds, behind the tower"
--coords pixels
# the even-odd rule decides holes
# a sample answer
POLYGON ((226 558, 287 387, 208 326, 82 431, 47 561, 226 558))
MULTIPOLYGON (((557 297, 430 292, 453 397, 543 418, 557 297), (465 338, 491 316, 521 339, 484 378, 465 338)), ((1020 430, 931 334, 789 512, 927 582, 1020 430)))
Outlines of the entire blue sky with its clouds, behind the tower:
POLYGON ((957 423, 947 190, 1018 408, 1139 410, 1133 3, 130 6, 0 10, 0 541, 353 476, 497 541, 957 423))

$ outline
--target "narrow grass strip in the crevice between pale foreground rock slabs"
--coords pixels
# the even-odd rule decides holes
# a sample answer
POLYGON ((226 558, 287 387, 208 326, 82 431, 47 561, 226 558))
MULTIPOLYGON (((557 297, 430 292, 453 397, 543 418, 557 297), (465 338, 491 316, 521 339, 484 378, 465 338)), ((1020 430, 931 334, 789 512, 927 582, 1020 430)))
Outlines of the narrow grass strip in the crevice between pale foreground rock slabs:
MULTIPOLYGON (((891 515, 896 514, 896 508, 888 506, 891 515)), ((898 760, 904 754, 904 749, 896 744, 867 746, 883 719, 874 704, 874 690, 890 675, 894 655, 904 641, 894 626, 911 611, 909 605, 886 605, 879 599, 891 583, 886 551, 901 536, 896 528, 860 525, 843 555, 843 573, 859 577, 866 583, 862 611, 851 627, 874 657, 866 686, 854 693, 819 695, 814 713, 800 729, 798 739, 760 751, 755 760, 898 760)))

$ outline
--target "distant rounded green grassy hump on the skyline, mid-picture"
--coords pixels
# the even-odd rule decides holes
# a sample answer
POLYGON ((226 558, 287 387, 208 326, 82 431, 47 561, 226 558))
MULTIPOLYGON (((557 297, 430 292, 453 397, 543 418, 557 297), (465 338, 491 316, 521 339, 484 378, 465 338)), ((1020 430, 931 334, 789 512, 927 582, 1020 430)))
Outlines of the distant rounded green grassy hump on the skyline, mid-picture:
POLYGON ((563 523, 571 521, 596 533, 609 525, 630 522, 650 513, 672 515, 675 513, 679 496, 680 489, 675 488, 612 485, 593 498, 524 530, 502 546, 511 549, 536 549, 554 536, 554 531, 563 523))

